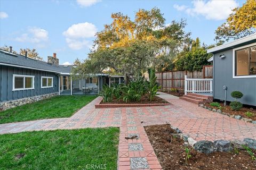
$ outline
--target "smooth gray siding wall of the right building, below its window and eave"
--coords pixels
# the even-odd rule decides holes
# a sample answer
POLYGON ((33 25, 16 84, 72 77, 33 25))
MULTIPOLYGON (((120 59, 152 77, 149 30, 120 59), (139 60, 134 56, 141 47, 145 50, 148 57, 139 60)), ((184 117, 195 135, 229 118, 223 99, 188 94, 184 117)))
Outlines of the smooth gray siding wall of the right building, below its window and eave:
POLYGON ((213 97, 215 99, 225 99, 225 90, 227 86, 227 101, 234 101, 230 93, 232 91, 241 91, 244 96, 238 99, 243 104, 256 106, 256 78, 233 78, 233 49, 216 53, 213 56, 213 97), (225 59, 219 59, 219 55, 224 54, 225 59))

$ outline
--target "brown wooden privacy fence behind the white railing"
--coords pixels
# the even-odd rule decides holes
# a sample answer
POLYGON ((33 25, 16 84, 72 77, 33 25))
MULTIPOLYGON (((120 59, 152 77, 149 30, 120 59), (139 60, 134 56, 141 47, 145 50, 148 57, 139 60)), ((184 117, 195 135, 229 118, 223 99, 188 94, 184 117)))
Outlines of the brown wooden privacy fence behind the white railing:
POLYGON ((166 71, 156 72, 156 81, 162 89, 184 89, 185 75, 188 79, 212 78, 212 65, 204 65, 202 71, 166 71))

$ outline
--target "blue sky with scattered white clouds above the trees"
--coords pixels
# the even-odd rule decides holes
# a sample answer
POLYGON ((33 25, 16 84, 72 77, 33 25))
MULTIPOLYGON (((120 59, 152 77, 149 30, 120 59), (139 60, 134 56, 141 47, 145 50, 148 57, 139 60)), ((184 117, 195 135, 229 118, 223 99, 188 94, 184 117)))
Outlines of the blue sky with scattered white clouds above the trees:
POLYGON ((122 12, 134 18, 139 8, 158 7, 166 24, 187 19, 186 31, 201 43, 213 44, 214 31, 245 1, 0 1, 0 46, 36 48, 43 60, 57 53, 60 64, 85 59, 94 33, 122 12))

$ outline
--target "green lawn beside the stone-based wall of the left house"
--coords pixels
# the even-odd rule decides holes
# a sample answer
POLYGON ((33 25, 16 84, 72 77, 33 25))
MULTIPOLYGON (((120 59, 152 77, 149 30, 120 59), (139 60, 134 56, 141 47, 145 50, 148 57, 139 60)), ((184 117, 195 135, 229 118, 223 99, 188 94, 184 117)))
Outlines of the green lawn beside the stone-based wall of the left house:
POLYGON ((0 112, 0 124, 70 117, 97 96, 56 96, 0 112))

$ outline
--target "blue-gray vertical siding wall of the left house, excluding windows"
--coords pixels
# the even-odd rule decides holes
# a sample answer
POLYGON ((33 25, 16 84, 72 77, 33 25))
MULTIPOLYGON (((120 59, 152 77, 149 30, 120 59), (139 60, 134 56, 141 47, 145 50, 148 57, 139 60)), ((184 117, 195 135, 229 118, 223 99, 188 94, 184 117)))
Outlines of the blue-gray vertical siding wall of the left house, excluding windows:
POLYGON ((11 67, 0 65, 0 101, 14 100, 44 94, 51 94, 53 92, 58 92, 59 84, 58 76, 52 72, 37 71, 30 69, 23 69, 18 67, 11 67), (31 90, 18 90, 12 91, 13 87, 13 74, 22 74, 22 75, 34 75, 35 84, 34 88, 31 90), (52 88, 41 88, 41 77, 53 77, 53 87, 52 88))

